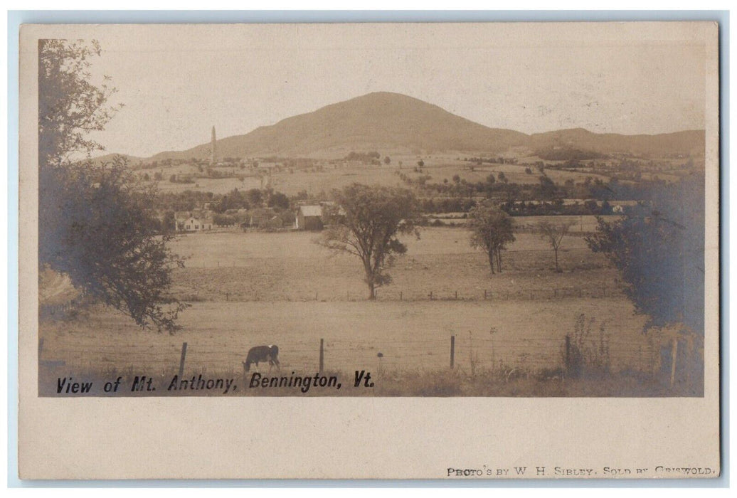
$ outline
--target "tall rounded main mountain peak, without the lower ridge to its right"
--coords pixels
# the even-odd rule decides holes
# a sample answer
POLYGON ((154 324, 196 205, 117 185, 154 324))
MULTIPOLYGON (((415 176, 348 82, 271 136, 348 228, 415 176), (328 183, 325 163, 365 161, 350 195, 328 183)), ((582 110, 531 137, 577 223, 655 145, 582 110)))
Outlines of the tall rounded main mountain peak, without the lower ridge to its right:
MULTIPOLYGON (((220 157, 332 155, 450 150, 503 152, 525 142, 524 133, 489 128, 413 97, 377 92, 217 141, 220 157)), ((209 157, 210 144, 153 159, 209 157)))

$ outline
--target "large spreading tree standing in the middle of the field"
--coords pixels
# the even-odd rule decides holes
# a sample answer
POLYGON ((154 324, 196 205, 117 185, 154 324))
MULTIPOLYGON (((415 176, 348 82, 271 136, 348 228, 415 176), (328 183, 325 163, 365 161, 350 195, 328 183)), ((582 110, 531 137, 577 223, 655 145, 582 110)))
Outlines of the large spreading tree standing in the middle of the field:
POLYGON ((377 287, 391 283, 386 269, 397 254, 407 252, 399 235, 419 237, 417 200, 407 189, 359 183, 334 191, 333 199, 335 204, 324 210, 327 228, 320 242, 360 258, 368 299, 375 299, 377 287))

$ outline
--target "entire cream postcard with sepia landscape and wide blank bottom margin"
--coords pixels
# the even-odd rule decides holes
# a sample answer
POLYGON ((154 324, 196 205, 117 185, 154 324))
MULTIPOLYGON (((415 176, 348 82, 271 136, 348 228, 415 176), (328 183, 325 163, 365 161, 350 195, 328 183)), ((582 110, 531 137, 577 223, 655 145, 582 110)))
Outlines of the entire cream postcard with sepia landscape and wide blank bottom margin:
POLYGON ((23 27, 21 475, 718 476, 717 37, 23 27))

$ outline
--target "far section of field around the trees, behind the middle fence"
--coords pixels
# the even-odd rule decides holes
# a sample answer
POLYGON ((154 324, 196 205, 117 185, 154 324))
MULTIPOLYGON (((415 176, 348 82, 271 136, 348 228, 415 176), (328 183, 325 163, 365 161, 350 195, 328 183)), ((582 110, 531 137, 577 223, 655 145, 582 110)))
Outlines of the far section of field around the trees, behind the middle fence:
MULTIPOLYGON (((193 300, 354 301, 366 297, 363 268, 355 256, 315 244, 319 233, 221 232, 187 234, 172 244, 185 256, 173 290, 193 300), (316 297, 315 297, 316 295, 316 297)), ((492 275, 488 258, 469 245, 462 228, 425 228, 420 239, 405 239, 408 251, 380 287, 380 300, 511 298, 516 292, 546 298, 555 289, 583 288, 581 295, 618 292, 617 273, 593 254, 581 237, 564 239, 555 273, 553 251, 535 234, 517 234, 503 254, 503 273, 492 275)))

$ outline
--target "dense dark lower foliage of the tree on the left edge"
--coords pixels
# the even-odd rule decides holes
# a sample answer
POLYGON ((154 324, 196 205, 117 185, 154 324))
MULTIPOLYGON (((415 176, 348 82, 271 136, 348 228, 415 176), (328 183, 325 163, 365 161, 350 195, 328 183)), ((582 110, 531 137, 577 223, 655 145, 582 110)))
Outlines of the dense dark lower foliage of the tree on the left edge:
POLYGON ((140 326, 176 330, 186 305, 166 292, 171 269, 183 264, 167 247, 172 236, 159 235, 150 207, 156 192, 138 185, 120 157, 41 174, 39 262, 140 326))

